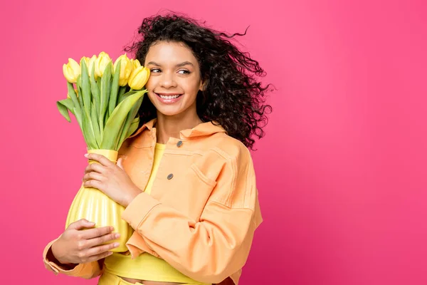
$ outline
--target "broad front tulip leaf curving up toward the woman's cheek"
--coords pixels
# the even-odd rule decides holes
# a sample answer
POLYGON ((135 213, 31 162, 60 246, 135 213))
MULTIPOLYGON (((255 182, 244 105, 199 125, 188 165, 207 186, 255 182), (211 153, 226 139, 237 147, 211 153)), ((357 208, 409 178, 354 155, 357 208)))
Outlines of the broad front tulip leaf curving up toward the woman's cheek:
MULTIPOLYGON (((103 150, 117 150, 116 140, 117 137, 121 138, 122 134, 120 132, 120 128, 122 124, 125 123, 127 118, 127 114, 130 112, 132 107, 137 103, 139 98, 141 98, 144 93, 147 93, 147 90, 140 90, 135 94, 128 96, 125 100, 122 101, 112 112, 110 118, 105 124, 104 137, 101 142, 101 149, 103 150)), ((127 133, 126 129, 123 129, 125 133, 127 133)), ((120 146, 119 146, 120 147, 120 146)))

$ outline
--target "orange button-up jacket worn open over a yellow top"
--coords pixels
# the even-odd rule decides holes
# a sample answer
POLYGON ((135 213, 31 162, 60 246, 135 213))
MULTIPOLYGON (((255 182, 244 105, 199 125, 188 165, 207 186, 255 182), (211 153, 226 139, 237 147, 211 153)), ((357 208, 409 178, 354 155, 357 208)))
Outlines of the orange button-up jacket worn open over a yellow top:
MULTIPOLYGON (((145 189, 156 143, 155 119, 125 140, 119 151, 132 181, 145 189)), ((132 258, 148 252, 197 281, 238 284, 253 234, 262 222, 251 154, 221 126, 201 123, 169 138, 151 194, 142 192, 122 214, 135 232, 127 242, 132 258), (226 281, 224 281, 226 282, 226 281)), ((52 242, 51 242, 52 243, 52 242)), ((46 259, 46 268, 92 278, 95 261, 65 271, 46 259)))

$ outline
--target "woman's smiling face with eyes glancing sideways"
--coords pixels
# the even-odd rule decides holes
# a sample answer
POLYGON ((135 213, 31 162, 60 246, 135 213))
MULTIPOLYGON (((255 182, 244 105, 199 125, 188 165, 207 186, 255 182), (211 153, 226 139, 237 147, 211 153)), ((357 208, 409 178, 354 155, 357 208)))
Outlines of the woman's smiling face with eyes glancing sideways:
POLYGON ((157 117, 197 118, 196 96, 203 82, 199 63, 188 47, 183 43, 155 43, 149 48, 144 66, 150 70, 145 87, 157 117))

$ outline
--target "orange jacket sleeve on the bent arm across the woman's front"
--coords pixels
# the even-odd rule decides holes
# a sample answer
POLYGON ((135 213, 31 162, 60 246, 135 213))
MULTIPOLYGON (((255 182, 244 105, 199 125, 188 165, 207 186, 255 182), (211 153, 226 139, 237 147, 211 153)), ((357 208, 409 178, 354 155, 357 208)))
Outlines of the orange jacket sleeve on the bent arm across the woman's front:
POLYGON ((243 267, 262 218, 248 150, 226 162, 199 221, 138 195, 122 213, 139 234, 128 242, 133 257, 148 252, 196 281, 220 283, 243 267))

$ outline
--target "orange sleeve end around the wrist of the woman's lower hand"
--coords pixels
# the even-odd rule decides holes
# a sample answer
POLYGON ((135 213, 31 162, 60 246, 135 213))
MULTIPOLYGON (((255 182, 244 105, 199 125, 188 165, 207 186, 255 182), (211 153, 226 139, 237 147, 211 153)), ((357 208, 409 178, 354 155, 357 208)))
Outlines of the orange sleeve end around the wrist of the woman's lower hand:
POLYGON ((46 269, 52 271, 56 275, 62 273, 68 276, 81 277, 84 279, 91 279, 101 274, 100 264, 97 261, 78 264, 73 269, 65 269, 55 262, 49 260, 53 242, 56 242, 56 239, 52 242, 49 242, 43 251, 43 263, 45 264, 46 269))

